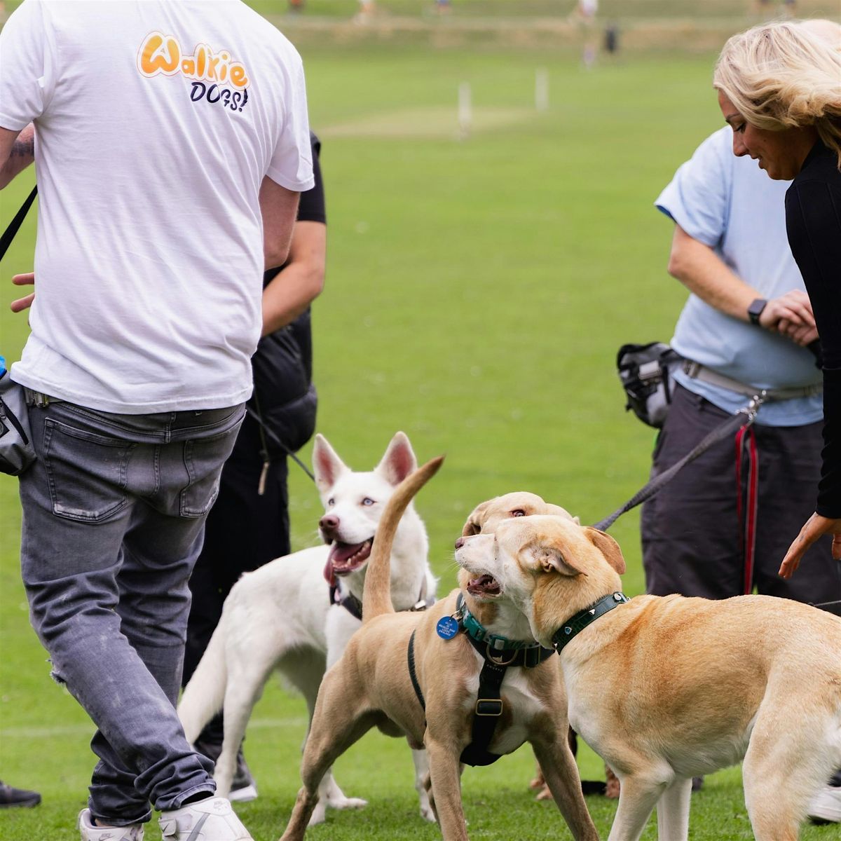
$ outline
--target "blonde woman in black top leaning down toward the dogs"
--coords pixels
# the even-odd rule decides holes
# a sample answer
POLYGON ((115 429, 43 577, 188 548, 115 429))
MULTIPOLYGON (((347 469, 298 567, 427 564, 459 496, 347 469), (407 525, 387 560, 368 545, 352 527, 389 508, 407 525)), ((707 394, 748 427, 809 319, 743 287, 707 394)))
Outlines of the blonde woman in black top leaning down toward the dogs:
MULTIPOLYGON (((841 561, 841 28, 777 23, 734 35, 713 87, 741 146, 785 193, 791 253, 806 284, 822 351, 823 452, 815 513, 783 558, 790 578, 818 537, 833 535, 841 561)), ((841 574, 841 566, 839 566, 841 574)), ((841 772, 809 814, 841 822, 841 772)))

